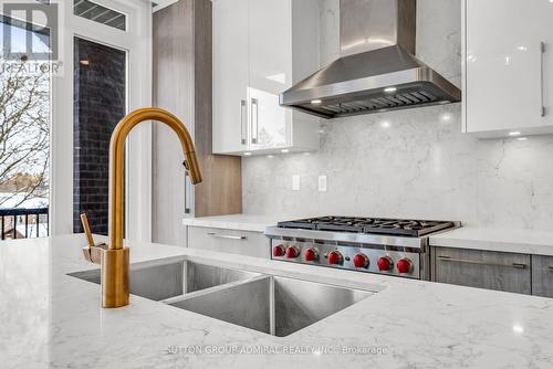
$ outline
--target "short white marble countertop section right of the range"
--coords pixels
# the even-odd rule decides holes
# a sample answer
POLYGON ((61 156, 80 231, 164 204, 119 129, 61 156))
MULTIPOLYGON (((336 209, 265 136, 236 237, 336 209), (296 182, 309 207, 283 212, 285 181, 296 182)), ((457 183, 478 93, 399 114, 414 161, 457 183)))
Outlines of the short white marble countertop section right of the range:
POLYGON ((430 236, 430 244, 553 256, 553 232, 463 226, 430 236))

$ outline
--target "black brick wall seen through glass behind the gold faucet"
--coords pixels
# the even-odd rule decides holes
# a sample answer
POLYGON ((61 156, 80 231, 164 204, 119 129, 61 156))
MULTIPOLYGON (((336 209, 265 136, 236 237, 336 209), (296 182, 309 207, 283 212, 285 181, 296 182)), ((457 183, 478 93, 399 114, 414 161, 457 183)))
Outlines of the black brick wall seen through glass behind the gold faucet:
POLYGON ((126 112, 126 53, 75 38, 74 41, 73 231, 107 234, 109 138, 126 112), (82 63, 88 61, 88 65, 82 63))

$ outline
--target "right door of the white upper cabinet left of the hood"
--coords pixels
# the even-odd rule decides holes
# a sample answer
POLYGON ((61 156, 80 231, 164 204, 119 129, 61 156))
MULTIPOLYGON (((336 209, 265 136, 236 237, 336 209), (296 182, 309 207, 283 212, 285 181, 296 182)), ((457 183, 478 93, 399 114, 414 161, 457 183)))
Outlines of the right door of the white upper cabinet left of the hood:
POLYGON ((279 94, 292 85, 291 0, 249 0, 250 148, 289 145, 291 112, 279 94))

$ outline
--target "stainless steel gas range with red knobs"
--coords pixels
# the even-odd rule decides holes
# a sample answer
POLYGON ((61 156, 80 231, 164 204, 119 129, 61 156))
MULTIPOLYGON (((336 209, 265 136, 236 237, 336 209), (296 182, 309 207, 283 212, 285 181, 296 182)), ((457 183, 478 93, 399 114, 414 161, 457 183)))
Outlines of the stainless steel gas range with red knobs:
POLYGON ((460 222, 322 217, 265 229, 272 259, 430 280, 428 236, 460 222))

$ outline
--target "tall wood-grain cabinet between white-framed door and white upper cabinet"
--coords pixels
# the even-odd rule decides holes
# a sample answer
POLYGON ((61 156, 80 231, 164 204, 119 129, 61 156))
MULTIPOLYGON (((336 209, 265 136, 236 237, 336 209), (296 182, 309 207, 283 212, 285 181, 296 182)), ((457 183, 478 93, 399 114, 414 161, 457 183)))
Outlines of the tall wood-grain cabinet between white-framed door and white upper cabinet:
POLYGON ((153 127, 153 241, 186 243, 182 218, 242 212, 241 160, 211 154, 211 2, 180 0, 153 15, 154 106, 179 117, 194 138, 204 181, 182 170, 175 133, 153 127))

